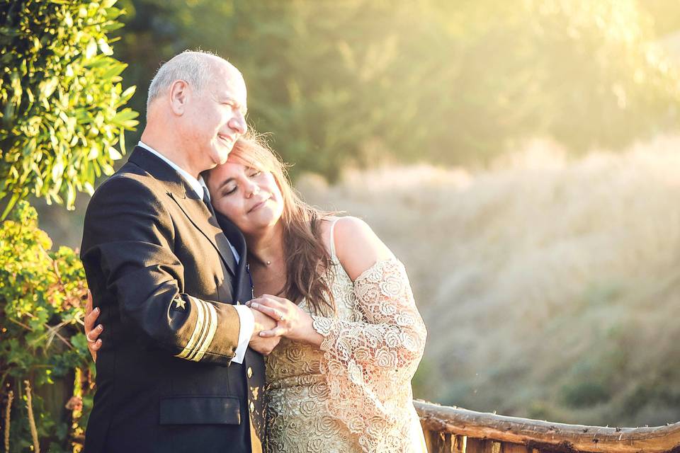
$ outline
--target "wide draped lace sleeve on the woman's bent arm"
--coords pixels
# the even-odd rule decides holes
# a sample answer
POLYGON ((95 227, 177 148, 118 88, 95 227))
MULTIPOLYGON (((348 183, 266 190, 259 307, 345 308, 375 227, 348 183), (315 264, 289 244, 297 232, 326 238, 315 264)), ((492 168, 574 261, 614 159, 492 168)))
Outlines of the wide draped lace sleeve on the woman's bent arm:
POLYGON ((324 336, 328 408, 359 436, 365 452, 406 451, 411 379, 423 355, 425 325, 396 259, 365 270, 354 292, 361 321, 312 316, 314 330, 324 336))

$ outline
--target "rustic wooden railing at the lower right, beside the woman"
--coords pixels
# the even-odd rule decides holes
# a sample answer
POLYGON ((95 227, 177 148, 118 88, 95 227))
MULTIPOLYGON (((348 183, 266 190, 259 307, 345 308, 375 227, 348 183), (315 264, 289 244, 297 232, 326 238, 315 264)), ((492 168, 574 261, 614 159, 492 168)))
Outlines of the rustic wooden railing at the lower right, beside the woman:
POLYGON ((680 423, 567 425, 414 401, 429 453, 680 453, 680 423))

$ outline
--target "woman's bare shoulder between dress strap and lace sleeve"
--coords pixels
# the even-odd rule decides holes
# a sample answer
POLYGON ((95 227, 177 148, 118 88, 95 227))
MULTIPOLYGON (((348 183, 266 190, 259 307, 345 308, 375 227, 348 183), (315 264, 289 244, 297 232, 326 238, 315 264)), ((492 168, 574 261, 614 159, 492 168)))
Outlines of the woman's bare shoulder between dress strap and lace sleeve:
POLYGON ((322 237, 351 280, 378 261, 395 258, 373 229, 358 217, 327 217, 322 222, 322 237), (332 237, 331 237, 332 231, 332 237), (334 246, 331 247, 331 241, 334 246))

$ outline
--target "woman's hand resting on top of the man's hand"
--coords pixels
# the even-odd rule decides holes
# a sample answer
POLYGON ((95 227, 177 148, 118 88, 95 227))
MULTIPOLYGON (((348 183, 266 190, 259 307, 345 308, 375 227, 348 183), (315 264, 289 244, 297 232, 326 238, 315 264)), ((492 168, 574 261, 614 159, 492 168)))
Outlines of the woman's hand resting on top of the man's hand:
POLYGON ((324 339, 317 331, 314 331, 312 316, 288 299, 262 294, 247 302, 246 305, 276 321, 275 328, 260 332, 262 337, 282 336, 317 346, 321 345, 324 339))

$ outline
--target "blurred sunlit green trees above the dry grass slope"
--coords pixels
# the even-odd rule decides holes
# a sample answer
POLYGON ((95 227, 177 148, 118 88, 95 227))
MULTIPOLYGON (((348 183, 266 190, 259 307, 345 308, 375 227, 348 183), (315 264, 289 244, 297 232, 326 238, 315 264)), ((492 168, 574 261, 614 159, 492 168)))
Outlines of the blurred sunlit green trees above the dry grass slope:
POLYGON ((678 76, 649 13, 677 17, 677 2, 127 1, 130 81, 144 88, 186 48, 227 57, 249 120, 297 174, 477 163, 536 135, 618 148, 677 125, 678 76))

